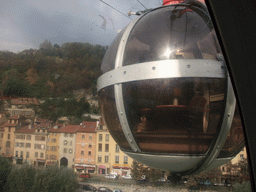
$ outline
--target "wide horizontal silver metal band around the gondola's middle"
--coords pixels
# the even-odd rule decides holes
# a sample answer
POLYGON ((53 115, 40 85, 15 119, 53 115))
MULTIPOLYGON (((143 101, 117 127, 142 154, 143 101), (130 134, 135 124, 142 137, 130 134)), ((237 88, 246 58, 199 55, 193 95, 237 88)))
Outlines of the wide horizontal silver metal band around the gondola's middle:
POLYGON ((225 64, 215 60, 184 59, 145 62, 116 68, 98 79, 104 87, 131 81, 179 77, 224 78, 225 64))

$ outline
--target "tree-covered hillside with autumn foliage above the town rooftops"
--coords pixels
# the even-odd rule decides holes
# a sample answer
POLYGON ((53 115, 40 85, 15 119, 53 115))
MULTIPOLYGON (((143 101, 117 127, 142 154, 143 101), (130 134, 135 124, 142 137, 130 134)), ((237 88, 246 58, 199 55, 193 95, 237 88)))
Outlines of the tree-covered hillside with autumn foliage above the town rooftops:
POLYGON ((0 51, 0 94, 3 97, 68 97, 74 90, 96 94, 96 81, 107 47, 89 43, 52 45, 18 54, 0 51))

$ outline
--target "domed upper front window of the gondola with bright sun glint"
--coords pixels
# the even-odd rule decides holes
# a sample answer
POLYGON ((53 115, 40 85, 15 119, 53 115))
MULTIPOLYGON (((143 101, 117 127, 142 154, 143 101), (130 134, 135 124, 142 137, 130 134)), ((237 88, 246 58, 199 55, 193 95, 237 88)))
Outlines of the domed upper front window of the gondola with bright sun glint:
POLYGON ((186 7, 162 7, 134 26, 124 52, 124 65, 166 59, 216 59, 215 31, 186 7), (160 35, 161 34, 161 35, 160 35))

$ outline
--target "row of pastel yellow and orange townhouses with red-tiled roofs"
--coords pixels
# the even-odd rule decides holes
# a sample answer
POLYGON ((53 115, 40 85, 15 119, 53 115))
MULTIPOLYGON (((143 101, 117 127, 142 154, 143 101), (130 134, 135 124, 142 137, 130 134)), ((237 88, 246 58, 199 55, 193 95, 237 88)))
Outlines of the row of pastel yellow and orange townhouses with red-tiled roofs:
POLYGON ((102 118, 80 125, 35 120, 22 126, 23 116, 11 116, 0 129, 1 155, 15 164, 68 166, 78 172, 106 174, 129 172, 132 159, 109 134, 102 118))

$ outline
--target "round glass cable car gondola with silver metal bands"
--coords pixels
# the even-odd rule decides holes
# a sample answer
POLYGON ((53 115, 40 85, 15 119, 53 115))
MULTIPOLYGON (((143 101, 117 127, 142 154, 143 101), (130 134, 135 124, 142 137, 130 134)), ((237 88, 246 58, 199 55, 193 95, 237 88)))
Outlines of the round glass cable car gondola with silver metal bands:
POLYGON ((107 50, 102 71, 104 120, 135 160, 191 174, 243 147, 232 85, 202 4, 163 6, 133 21, 107 50))

